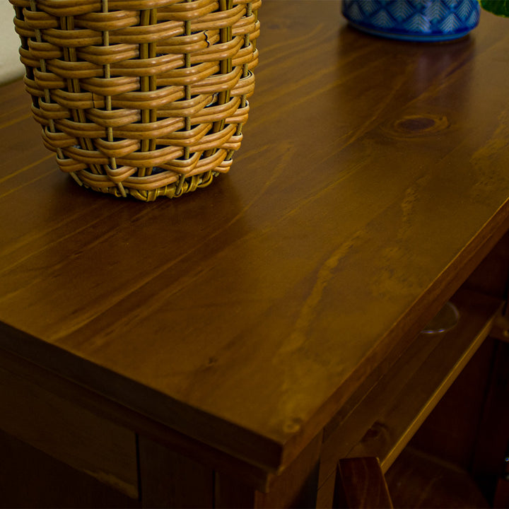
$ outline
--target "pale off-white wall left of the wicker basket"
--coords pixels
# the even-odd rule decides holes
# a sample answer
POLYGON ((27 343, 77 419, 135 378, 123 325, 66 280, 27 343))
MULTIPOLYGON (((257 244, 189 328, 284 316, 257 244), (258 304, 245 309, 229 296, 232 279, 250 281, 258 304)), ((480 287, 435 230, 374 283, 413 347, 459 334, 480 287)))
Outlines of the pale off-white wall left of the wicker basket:
POLYGON ((0 83, 23 76, 25 68, 19 61, 20 40, 14 31, 14 8, 8 0, 0 0, 0 83))

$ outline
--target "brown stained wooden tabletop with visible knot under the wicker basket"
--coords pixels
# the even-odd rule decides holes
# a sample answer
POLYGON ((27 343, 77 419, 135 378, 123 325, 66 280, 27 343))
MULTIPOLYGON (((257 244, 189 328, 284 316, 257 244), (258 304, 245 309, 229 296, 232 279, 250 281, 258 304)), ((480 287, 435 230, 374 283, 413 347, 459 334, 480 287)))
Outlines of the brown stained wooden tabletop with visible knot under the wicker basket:
POLYGON ((276 471, 509 226, 509 21, 450 44, 265 0, 228 175, 149 204, 57 170, 0 95, 0 345, 276 471))

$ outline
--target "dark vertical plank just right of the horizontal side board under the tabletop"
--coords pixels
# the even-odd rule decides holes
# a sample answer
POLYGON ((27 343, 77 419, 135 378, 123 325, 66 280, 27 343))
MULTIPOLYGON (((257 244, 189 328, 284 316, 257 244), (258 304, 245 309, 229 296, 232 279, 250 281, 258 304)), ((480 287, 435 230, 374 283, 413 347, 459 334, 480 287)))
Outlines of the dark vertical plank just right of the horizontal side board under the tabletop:
POLYGON ((213 469, 139 436, 141 504, 145 508, 212 508, 213 469))

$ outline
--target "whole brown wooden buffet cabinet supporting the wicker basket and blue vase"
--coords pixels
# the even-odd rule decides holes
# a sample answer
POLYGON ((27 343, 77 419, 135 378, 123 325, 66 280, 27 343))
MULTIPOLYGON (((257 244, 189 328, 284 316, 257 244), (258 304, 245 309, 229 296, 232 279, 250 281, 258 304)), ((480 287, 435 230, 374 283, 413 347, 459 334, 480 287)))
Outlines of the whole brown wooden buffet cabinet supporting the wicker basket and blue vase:
POLYGON ((330 507, 339 459, 386 472, 490 332, 507 356, 508 21, 260 19, 242 148, 180 199, 78 187, 1 89, 0 505, 330 507))

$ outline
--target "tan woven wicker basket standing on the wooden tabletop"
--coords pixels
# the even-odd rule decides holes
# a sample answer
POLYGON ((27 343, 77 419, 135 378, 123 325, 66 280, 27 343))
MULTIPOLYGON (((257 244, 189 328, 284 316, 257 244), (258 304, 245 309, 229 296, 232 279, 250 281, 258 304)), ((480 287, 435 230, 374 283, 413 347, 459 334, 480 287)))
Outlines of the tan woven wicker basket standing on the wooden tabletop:
POLYGON ((10 1, 33 115, 80 185, 152 201, 228 171, 261 0, 10 1))

